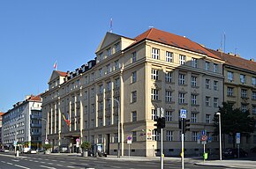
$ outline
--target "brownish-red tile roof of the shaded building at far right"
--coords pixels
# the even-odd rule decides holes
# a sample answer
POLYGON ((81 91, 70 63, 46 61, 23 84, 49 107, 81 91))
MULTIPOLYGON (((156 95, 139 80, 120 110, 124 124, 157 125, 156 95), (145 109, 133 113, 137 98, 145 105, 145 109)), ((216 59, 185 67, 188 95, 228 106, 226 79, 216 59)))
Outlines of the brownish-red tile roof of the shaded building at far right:
POLYGON ((251 70, 256 72, 256 62, 246 60, 240 56, 237 55, 229 55, 225 54, 221 51, 216 51, 210 48, 207 48, 207 50, 214 55, 218 55, 222 58, 222 60, 225 61, 224 64, 237 67, 238 69, 244 69, 244 70, 251 70))

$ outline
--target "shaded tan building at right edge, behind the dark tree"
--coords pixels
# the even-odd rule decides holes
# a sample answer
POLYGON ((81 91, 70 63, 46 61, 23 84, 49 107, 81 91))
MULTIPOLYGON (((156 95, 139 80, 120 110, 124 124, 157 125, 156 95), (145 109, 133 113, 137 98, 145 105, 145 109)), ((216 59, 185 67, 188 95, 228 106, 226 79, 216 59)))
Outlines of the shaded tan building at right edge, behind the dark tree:
MULTIPOLYGON (((243 112, 249 110, 256 117, 256 62, 246 60, 240 55, 225 54, 221 50, 208 49, 215 55, 221 57, 223 64, 224 79, 224 101, 241 108, 243 112)), ((233 143, 232 136, 226 136, 225 146, 230 147, 233 143)), ((245 150, 256 146, 256 133, 242 136, 241 147, 245 150)))

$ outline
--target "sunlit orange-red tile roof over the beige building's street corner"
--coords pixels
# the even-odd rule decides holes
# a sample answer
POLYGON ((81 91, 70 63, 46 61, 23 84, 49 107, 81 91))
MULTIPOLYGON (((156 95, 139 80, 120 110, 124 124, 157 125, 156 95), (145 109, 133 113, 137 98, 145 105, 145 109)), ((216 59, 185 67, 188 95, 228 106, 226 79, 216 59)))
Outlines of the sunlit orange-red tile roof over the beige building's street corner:
POLYGON ((216 59, 221 59, 217 55, 214 55, 214 54, 210 53, 209 51, 207 51, 207 49, 203 48, 200 44, 198 44, 188 38, 179 36, 177 34, 164 32, 164 31, 161 31, 161 30, 158 30, 155 28, 151 28, 151 29, 147 30, 145 33, 142 33, 139 36, 137 36, 136 38, 134 38, 134 40, 136 40, 136 42, 133 43, 132 46, 134 44, 139 43, 139 41, 141 41, 141 40, 154 40, 154 41, 164 43, 166 45, 170 45, 173 47, 183 48, 183 49, 197 52, 200 54, 208 55, 208 56, 214 57, 216 59))

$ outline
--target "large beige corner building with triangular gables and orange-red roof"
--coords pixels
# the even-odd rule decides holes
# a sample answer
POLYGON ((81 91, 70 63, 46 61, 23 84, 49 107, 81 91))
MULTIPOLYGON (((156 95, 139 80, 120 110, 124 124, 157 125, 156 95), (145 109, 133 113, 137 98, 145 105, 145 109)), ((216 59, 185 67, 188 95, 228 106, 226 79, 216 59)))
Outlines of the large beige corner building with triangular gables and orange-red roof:
POLYGON ((159 155, 154 119, 157 107, 162 107, 165 156, 180 153, 180 109, 191 120, 185 154, 201 153, 202 130, 212 137, 207 149, 218 151, 212 120, 223 101, 219 56, 192 40, 155 28, 134 39, 106 33, 95 54, 95 60, 75 71, 53 71, 49 90, 42 95, 50 143, 74 151, 79 138, 80 143, 102 143, 104 151, 117 154, 119 109, 121 155, 128 155, 127 136, 132 136, 131 155, 159 155))

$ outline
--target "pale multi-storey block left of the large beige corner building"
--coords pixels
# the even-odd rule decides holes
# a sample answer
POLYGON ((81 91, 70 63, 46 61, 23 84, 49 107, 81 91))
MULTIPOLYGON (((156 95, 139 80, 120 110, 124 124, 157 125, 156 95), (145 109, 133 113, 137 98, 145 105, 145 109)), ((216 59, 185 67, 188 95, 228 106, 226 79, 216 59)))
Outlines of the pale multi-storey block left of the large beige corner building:
POLYGON ((41 148, 41 95, 27 96, 3 117, 2 142, 13 148, 41 148))

